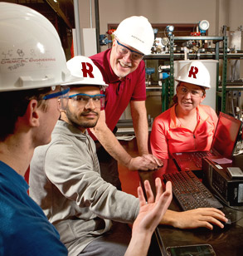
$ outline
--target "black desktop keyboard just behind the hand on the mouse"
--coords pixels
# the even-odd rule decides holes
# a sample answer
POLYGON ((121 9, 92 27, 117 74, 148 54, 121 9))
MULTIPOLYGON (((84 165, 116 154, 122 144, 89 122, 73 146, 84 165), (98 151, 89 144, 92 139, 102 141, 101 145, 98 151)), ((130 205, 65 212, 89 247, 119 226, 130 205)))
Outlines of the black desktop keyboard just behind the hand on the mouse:
POLYGON ((223 205, 207 190, 206 186, 192 173, 191 170, 163 175, 166 181, 173 185, 173 195, 183 210, 200 207, 221 209, 223 205))

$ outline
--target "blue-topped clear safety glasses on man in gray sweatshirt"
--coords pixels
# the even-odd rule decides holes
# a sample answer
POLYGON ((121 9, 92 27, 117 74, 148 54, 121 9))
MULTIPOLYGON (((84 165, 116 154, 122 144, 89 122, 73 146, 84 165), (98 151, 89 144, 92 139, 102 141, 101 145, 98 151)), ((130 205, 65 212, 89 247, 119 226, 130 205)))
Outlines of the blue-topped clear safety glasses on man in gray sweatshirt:
POLYGON ((90 101, 95 107, 104 107, 104 94, 89 95, 85 93, 78 93, 70 95, 69 98, 72 101, 73 106, 85 107, 90 101))

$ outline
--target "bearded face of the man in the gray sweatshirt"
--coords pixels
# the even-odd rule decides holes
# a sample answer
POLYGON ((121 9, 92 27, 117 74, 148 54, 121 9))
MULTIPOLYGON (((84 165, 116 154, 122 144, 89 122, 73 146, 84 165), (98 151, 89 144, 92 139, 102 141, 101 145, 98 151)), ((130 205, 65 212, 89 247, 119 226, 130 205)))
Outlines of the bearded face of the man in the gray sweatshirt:
MULTIPOLYGON (((99 86, 81 86, 79 88, 71 88, 70 96, 75 94, 87 94, 94 96, 100 94, 99 86)), ((82 132, 85 132, 86 128, 95 127, 100 116, 100 105, 90 100, 87 102, 75 101, 74 98, 70 98, 66 112, 62 113, 62 118, 69 124, 78 127, 82 132)))

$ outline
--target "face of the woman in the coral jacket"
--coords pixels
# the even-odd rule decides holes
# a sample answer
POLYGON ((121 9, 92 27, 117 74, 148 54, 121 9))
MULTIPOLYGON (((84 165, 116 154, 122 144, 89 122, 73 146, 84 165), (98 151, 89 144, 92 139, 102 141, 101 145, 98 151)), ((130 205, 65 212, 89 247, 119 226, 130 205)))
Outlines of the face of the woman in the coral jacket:
POLYGON ((178 106, 183 111, 195 109, 205 97, 205 90, 202 86, 196 86, 182 81, 177 86, 178 106))

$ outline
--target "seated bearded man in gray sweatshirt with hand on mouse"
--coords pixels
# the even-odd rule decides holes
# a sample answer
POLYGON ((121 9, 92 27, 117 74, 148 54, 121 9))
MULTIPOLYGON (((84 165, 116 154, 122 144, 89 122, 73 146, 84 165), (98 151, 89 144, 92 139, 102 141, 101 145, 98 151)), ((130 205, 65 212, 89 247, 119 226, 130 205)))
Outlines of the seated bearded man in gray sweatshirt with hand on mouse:
MULTIPOLYGON (((100 176, 95 143, 87 128, 96 125, 105 87, 99 69, 86 57, 67 66, 83 81, 70 86, 70 99, 52 133, 51 143, 35 150, 30 174, 30 195, 55 225, 69 255, 124 255, 129 229, 139 214, 139 199, 117 190, 100 176), (114 224, 115 222, 115 224, 114 224)), ((107 138, 109 140, 109 138, 107 138)), ((161 224, 196 228, 224 220, 217 209, 197 209, 187 214, 167 211, 161 224)))

